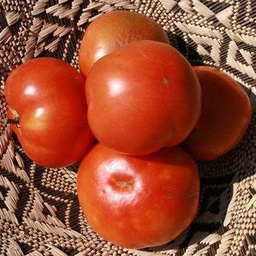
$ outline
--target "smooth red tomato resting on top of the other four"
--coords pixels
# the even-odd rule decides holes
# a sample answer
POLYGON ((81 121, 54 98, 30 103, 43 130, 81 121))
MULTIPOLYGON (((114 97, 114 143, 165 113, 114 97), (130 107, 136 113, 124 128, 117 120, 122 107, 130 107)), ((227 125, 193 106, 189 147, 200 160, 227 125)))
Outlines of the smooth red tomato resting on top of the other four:
POLYGON ((85 90, 95 137, 131 155, 178 145, 201 114, 201 87, 191 65, 160 42, 131 43, 101 58, 85 90))

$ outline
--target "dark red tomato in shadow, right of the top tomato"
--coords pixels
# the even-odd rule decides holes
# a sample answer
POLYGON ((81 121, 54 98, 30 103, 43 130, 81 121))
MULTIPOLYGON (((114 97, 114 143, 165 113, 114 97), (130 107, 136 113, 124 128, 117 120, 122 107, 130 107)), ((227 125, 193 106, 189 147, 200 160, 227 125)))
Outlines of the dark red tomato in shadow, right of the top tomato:
POLYGON ((251 102, 232 78, 217 68, 194 67, 202 88, 202 115, 185 141, 201 160, 224 155, 241 141, 251 121, 251 102))

